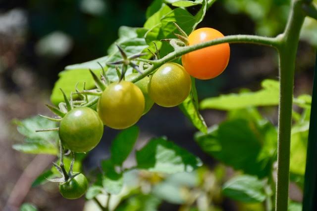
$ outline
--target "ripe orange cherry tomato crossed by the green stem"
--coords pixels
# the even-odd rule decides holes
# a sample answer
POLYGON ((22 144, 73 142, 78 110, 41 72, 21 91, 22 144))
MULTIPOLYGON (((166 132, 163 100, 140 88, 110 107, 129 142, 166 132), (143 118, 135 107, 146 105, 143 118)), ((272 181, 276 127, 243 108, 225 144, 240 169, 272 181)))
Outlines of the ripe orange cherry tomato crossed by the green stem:
MULTIPOLYGON (((207 42, 224 37, 212 28, 201 28, 188 37, 189 45, 207 42)), ((228 43, 222 43, 192 51, 182 56, 185 70, 197 79, 212 79, 220 75, 227 67, 230 57, 228 43)))

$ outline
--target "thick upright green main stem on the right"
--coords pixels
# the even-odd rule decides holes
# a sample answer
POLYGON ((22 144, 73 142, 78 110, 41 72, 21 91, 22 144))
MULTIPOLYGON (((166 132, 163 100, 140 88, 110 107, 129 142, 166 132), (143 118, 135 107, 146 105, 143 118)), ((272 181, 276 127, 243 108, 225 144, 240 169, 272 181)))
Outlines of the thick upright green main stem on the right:
POLYGON ((302 1, 293 0, 292 9, 279 51, 280 101, 278 117, 277 181, 275 211, 287 211, 292 104, 296 52, 305 15, 302 1))

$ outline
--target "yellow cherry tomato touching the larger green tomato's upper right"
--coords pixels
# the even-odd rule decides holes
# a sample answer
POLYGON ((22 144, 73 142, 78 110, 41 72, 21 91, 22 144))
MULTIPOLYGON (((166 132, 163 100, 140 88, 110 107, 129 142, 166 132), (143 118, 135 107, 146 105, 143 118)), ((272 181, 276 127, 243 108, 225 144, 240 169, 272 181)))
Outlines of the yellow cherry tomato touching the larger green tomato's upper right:
POLYGON ((145 99, 138 86, 131 82, 114 82, 102 93, 97 111, 103 123, 114 129, 134 125, 144 112, 145 99))

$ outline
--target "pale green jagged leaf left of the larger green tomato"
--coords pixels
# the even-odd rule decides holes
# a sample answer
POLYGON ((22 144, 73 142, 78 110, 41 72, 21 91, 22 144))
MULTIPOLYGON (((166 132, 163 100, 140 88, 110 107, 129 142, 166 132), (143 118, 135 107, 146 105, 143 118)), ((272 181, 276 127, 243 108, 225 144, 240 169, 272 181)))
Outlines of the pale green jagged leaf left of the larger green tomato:
POLYGON ((15 120, 14 124, 17 125, 18 132, 24 136, 24 143, 14 144, 13 149, 30 154, 57 155, 58 132, 35 132, 37 129, 54 128, 55 122, 35 116, 22 121, 15 120))

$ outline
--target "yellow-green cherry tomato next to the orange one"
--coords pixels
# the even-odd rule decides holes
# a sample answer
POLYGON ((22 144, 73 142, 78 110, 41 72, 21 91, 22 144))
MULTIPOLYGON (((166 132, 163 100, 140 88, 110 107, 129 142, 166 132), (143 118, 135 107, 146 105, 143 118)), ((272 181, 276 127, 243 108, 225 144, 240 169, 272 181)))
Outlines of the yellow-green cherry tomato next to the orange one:
POLYGON ((191 86, 191 78, 181 65, 166 63, 151 77, 149 94, 158 105, 173 107, 186 99, 191 86))

